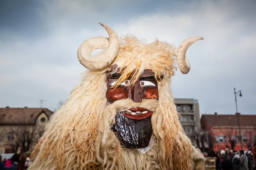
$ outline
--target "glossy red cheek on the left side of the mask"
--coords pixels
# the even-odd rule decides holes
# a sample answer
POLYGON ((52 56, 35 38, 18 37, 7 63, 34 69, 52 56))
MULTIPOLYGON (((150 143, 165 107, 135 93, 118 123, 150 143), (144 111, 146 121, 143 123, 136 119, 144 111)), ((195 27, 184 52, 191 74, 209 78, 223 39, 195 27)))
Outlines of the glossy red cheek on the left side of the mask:
POLYGON ((108 89, 106 93, 109 102, 128 98, 128 90, 126 88, 108 89))

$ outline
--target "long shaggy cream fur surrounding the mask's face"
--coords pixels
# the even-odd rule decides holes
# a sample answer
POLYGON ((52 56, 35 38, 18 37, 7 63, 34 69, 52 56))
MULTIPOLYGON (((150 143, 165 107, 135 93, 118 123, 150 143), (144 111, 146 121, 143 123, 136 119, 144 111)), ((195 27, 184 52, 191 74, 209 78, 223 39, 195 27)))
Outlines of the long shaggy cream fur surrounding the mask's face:
MULTIPOLYGON (((134 49, 141 52, 140 48, 143 47, 139 48, 137 40, 131 38, 128 40, 126 50, 123 49, 125 45, 120 45, 120 52, 114 64, 128 55, 123 55, 122 50, 126 51, 125 53, 134 49), (131 40, 131 44, 128 40, 131 40), (132 48, 131 45, 136 48, 132 48)), ((129 54, 133 62, 140 61, 140 67, 135 69, 131 66, 132 63, 129 63, 125 68, 127 71, 123 74, 125 78, 133 71, 137 71, 139 75, 144 69, 153 70, 156 76, 163 74, 163 80, 158 82, 158 101, 144 99, 141 103, 135 103, 131 99, 122 99, 108 104, 105 97, 108 68, 87 71, 83 81, 71 92, 67 102, 50 118, 44 135, 32 152, 32 164, 29 170, 192 169, 191 142, 178 120, 179 114, 170 87, 170 77, 175 68, 172 58, 174 53, 163 51, 160 55, 160 51, 154 48, 148 51, 148 58, 160 58, 151 60, 151 64, 138 55, 129 54), (155 51, 154 56, 149 55, 151 52, 153 54, 153 51, 155 51), (163 57, 169 58, 170 61, 163 57), (166 63, 163 63, 164 61, 166 63), (166 65, 170 67, 166 68, 166 65), (154 145, 145 154, 134 149, 122 148, 111 130, 116 113, 132 107, 154 110, 151 117, 154 145)), ((123 60, 123 65, 124 63, 123 60)), ((120 77, 120 82, 125 78, 120 77)))

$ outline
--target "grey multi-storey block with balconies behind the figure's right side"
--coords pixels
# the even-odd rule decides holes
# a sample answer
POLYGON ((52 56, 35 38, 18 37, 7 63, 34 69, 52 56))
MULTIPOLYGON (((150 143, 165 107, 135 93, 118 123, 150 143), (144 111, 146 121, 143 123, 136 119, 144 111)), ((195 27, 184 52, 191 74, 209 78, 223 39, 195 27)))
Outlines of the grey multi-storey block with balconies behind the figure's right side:
POLYGON ((200 129, 200 113, 198 100, 195 99, 174 99, 176 109, 180 113, 180 123, 191 142, 192 131, 200 129))

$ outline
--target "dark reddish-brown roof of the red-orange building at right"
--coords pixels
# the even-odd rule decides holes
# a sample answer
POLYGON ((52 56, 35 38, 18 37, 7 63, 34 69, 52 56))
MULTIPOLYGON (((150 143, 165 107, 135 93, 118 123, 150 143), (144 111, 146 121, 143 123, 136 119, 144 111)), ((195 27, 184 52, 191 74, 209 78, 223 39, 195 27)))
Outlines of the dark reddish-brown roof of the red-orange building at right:
MULTIPOLYGON (((240 126, 256 126, 256 115, 238 114, 240 126)), ((202 121, 206 121, 210 126, 238 126, 237 114, 235 115, 209 115, 203 114, 202 121)))

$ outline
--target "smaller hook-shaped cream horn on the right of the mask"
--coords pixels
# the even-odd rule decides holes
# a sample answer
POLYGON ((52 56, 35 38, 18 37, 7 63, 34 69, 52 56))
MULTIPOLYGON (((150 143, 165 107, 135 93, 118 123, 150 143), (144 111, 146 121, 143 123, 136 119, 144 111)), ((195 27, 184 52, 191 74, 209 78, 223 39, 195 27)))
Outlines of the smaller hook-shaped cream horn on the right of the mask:
POLYGON ((189 48, 190 45, 192 45, 194 42, 198 41, 198 40, 204 40, 203 37, 191 37, 186 39, 185 41, 183 41, 177 51, 176 57, 177 57, 177 62, 178 62, 178 66, 180 68, 180 71, 183 74, 187 74, 190 70, 190 63, 189 63, 189 59, 187 59, 186 55, 186 51, 189 48))

